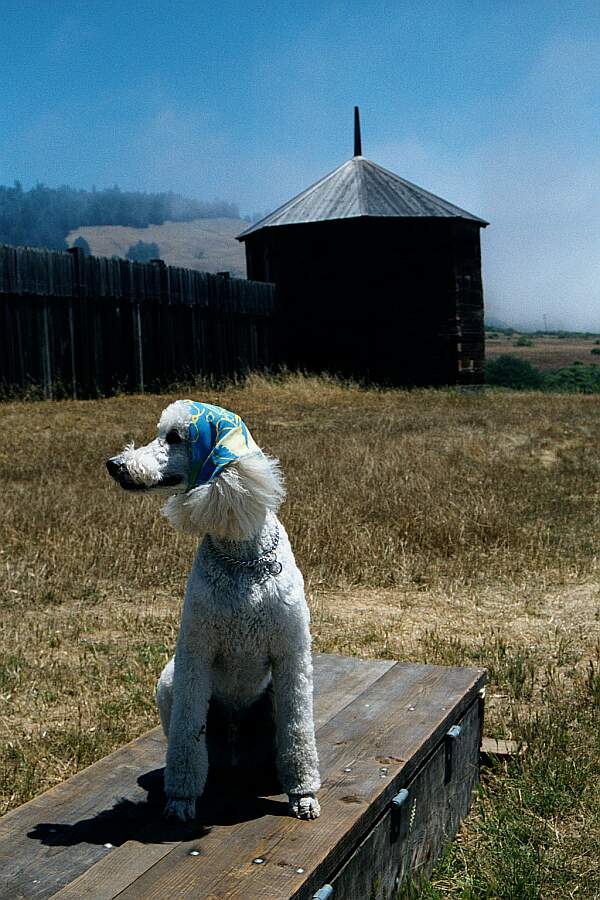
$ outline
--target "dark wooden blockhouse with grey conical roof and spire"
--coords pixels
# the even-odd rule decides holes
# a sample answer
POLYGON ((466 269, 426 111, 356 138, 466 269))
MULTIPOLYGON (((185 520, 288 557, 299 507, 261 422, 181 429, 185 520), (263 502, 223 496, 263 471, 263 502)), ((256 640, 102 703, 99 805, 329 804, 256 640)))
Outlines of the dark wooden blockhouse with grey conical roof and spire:
POLYGON ((244 231, 248 278, 277 285, 291 368, 396 385, 483 381, 487 222, 362 156, 244 231))

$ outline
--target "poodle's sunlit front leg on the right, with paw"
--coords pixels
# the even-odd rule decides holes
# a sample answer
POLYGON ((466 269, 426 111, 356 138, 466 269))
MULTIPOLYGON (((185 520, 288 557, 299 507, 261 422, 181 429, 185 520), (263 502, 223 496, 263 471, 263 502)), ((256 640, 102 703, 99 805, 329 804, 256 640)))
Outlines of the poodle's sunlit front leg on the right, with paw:
POLYGON ((299 819, 316 819, 321 809, 315 793, 321 787, 321 779, 309 642, 298 651, 273 658, 273 689, 279 780, 289 796, 290 812, 299 819))

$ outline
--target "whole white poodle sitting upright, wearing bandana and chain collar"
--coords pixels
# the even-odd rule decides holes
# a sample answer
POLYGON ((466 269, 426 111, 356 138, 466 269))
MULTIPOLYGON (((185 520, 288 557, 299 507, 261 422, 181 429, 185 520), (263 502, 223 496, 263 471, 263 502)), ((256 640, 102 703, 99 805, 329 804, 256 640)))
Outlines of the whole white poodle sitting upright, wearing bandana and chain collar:
MULTIPOLYGON (((309 612, 276 516, 284 497, 278 461, 262 453, 235 413, 178 400, 163 411, 155 440, 127 446, 107 468, 126 490, 171 494, 163 514, 201 539, 175 657, 157 688, 168 738, 165 814, 195 816, 209 755, 212 765, 223 753, 222 747, 211 751, 211 737, 213 747, 218 743, 211 734, 214 709, 225 711, 235 738, 237 725, 248 721, 248 734, 268 731, 259 715, 268 708, 290 812, 317 818, 309 612)), ((232 741, 228 747, 232 763, 246 749, 232 741)))

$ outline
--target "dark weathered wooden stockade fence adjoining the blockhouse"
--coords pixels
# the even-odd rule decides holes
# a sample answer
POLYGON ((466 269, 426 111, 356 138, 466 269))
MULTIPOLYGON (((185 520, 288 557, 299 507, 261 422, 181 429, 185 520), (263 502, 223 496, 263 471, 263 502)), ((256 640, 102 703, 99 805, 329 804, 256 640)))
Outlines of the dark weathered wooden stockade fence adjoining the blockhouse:
POLYGON ((94 397, 262 369, 274 303, 272 284, 160 260, 0 246, 0 385, 94 397))

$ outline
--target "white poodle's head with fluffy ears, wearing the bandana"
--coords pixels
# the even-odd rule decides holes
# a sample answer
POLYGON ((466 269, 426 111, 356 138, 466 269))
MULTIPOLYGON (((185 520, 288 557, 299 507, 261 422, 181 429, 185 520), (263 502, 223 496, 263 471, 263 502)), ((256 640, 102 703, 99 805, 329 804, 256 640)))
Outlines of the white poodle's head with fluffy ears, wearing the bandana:
POLYGON ((106 466, 127 491, 170 494, 163 515, 194 534, 248 539, 284 497, 278 461, 259 449, 240 417, 193 400, 167 406, 151 443, 129 444, 106 466))

